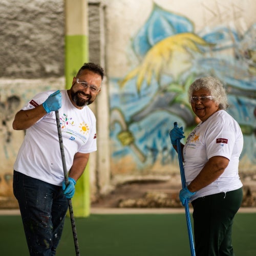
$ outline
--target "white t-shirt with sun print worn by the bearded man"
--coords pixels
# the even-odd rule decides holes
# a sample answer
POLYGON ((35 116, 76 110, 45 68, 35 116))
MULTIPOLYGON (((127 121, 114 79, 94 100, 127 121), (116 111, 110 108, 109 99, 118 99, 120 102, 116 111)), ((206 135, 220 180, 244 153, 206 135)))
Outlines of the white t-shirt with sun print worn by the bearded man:
MULTIPOLYGON (((42 104, 53 92, 37 94, 23 110, 33 109, 36 105, 42 104)), ((61 97, 59 117, 69 171, 77 152, 91 153, 97 150, 96 118, 88 106, 81 110, 75 108, 66 90, 61 90, 61 97)), ((61 185, 64 174, 54 111, 46 114, 26 130, 14 163, 14 170, 50 184, 61 185)))

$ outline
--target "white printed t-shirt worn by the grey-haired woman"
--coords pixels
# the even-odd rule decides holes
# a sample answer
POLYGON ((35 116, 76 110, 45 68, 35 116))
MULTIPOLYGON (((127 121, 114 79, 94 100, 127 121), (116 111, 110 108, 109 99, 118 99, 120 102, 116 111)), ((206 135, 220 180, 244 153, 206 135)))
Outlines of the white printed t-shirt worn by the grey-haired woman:
POLYGON ((211 157, 226 157, 229 159, 229 164, 217 180, 198 190, 191 197, 191 201, 242 187, 238 174, 242 149, 243 134, 240 126, 226 111, 217 111, 197 125, 188 136, 183 148, 186 185, 197 177, 211 157))

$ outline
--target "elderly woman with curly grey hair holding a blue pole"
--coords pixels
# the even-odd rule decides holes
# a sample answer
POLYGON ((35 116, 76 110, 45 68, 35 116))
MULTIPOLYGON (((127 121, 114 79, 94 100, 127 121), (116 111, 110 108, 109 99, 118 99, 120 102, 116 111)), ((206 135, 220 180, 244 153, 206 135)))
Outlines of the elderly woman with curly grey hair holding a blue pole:
MULTIPOLYGON (((201 122, 181 144, 186 187, 180 191, 180 200, 193 205, 196 255, 234 255, 231 231, 243 198, 238 174, 243 135, 225 111, 227 96, 217 78, 197 79, 188 96, 201 122)), ((170 131, 176 150, 176 140, 184 138, 183 133, 182 127, 170 131)))

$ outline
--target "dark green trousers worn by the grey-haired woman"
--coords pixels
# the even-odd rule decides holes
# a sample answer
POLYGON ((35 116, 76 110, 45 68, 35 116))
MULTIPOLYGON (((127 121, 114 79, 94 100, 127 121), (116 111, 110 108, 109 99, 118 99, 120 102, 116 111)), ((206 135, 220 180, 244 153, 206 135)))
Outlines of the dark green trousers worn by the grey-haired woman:
POLYGON ((241 206, 243 189, 219 193, 192 202, 197 256, 233 256, 232 224, 241 206))

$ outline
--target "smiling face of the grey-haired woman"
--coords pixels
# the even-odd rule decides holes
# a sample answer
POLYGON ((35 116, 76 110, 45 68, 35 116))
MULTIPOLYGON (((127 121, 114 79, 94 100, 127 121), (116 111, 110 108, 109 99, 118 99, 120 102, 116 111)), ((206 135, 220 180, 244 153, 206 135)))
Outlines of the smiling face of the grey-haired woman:
MULTIPOLYGON (((208 90, 200 89, 193 91, 192 96, 210 96, 208 90)), ((219 111, 219 104, 214 99, 206 99, 204 101, 198 99, 195 102, 191 102, 191 107, 194 113, 200 118, 201 121, 207 120, 212 114, 219 111)))

